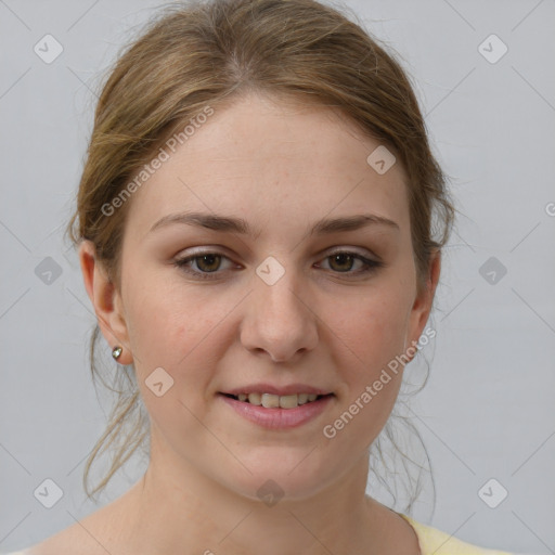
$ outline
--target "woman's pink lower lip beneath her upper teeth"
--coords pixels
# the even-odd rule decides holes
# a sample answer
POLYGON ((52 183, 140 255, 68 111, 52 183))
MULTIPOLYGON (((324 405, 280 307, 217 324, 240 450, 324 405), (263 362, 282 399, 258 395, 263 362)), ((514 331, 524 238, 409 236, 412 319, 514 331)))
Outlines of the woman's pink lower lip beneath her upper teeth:
POLYGON ((301 426, 322 414, 332 402, 334 396, 328 395, 317 401, 300 404, 295 409, 264 409, 263 406, 238 401, 222 393, 219 393, 219 397, 241 416, 259 426, 269 429, 288 429, 301 426))

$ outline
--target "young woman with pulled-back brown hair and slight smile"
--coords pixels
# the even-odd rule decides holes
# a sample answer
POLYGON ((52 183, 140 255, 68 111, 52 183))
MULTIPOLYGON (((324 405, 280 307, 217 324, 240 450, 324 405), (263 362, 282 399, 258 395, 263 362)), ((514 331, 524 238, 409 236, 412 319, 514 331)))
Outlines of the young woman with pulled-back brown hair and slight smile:
POLYGON ((404 73, 336 10, 211 1, 154 21, 102 91, 68 228, 137 384, 92 459, 142 402, 150 464, 25 553, 502 553, 365 493, 434 335, 453 214, 404 73))

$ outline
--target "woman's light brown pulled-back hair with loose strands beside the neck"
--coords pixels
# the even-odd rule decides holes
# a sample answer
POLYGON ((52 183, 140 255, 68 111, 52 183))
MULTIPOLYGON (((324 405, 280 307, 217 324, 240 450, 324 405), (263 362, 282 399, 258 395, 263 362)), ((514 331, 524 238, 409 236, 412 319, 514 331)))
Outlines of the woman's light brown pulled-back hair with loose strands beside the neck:
MULTIPOLYGON (((66 229, 74 246, 91 241, 96 261, 120 291, 121 240, 132 199, 111 216, 103 206, 207 106, 219 109, 250 92, 336 108, 395 153, 408 176, 411 238, 417 283, 423 286, 431 256, 448 242, 454 220, 446 175, 430 151, 414 91, 393 53, 386 52, 360 22, 315 0, 194 0, 166 5, 150 20, 140 38, 119 52, 102 88, 77 209, 66 229)), ((90 337, 93 382, 100 376, 99 332, 96 324, 90 337)), ((103 380, 117 400, 83 472, 89 499, 150 439, 149 416, 131 366, 130 375, 127 366, 116 374, 108 369, 115 389, 103 380), (91 465, 101 449, 105 452, 113 444, 109 470, 90 491, 91 465)), ((391 416, 397 416, 395 411, 391 416)), ((401 421, 409 423, 402 416, 401 421)), ((387 467, 383 437, 405 456, 396 444, 391 418, 371 449, 371 463, 378 456, 387 467)), ((405 511, 411 511, 417 494, 405 511)))

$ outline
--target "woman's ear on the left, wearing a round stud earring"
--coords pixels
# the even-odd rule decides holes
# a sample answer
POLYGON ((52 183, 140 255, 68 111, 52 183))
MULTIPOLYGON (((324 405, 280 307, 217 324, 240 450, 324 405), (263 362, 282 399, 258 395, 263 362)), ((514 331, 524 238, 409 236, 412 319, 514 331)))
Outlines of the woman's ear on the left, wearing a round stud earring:
POLYGON ((109 280, 102 263, 96 260, 95 248, 91 241, 85 240, 80 244, 79 263, 85 287, 94 307, 102 335, 111 350, 115 346, 122 347, 124 351, 117 362, 119 364, 131 364, 133 358, 121 296, 115 284, 109 280))

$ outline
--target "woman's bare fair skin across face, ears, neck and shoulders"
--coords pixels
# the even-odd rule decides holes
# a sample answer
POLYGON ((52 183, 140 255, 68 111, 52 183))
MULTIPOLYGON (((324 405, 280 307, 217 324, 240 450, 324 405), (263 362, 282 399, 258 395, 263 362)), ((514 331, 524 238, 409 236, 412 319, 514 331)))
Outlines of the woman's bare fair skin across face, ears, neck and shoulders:
POLYGON ((385 175, 370 167, 378 145, 330 108, 243 98, 217 109, 132 195, 121 291, 92 245, 81 245, 102 333, 111 347, 124 346, 121 364, 134 363, 152 422, 143 478, 72 527, 91 553, 105 553, 99 543, 118 554, 418 553, 412 527, 365 495, 369 448, 391 413, 402 369, 333 439, 322 433, 418 340, 440 273, 437 254, 418 291, 406 176, 400 163, 385 175), (243 218, 260 233, 179 223, 149 232, 183 210, 243 218), (362 212, 398 229, 305 236, 323 217, 362 212), (216 278, 172 264, 194 247, 227 257, 189 264, 216 269, 216 278), (334 264, 335 247, 384 267, 357 276, 362 262, 334 264), (268 256, 285 269, 273 285, 255 272, 268 256), (157 367, 173 378, 162 397, 145 385, 157 367), (256 382, 302 383, 335 397, 308 424, 267 430, 217 396, 256 382), (268 479, 284 491, 271 507, 256 494, 268 479))

